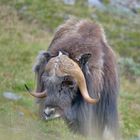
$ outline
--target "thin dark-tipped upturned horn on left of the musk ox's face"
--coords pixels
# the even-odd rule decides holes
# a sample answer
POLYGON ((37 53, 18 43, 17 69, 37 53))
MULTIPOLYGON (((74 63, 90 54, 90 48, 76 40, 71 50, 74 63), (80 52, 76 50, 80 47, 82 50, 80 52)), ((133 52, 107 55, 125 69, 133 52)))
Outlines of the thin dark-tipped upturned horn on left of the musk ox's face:
POLYGON ((43 92, 31 92, 30 89, 28 88, 28 86, 25 84, 25 88, 26 90, 34 97, 36 98, 45 98, 47 96, 46 91, 43 92))

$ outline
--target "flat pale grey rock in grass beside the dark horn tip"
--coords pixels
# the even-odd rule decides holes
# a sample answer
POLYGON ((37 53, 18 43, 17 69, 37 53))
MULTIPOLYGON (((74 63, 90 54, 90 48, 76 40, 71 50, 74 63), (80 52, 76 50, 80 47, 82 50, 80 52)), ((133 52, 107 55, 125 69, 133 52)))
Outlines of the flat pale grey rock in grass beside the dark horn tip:
POLYGON ((13 101, 17 101, 17 100, 21 99, 21 96, 16 95, 15 93, 12 93, 12 92, 4 92, 3 96, 6 99, 13 100, 13 101))

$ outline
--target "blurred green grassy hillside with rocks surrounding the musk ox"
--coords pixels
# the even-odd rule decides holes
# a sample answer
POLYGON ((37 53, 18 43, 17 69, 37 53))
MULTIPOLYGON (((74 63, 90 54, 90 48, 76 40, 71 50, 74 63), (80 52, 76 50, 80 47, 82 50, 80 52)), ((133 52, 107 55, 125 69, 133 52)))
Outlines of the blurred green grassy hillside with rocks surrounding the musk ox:
POLYGON ((69 17, 100 23, 117 54, 123 140, 140 140, 140 0, 0 0, 0 139, 85 140, 63 120, 37 117, 32 66, 69 17))

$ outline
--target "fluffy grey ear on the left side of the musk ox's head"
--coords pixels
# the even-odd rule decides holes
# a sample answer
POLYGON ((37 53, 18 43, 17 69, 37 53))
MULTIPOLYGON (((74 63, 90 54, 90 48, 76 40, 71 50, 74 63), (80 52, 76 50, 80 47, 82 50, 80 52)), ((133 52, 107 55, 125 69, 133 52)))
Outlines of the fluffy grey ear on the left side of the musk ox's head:
POLYGON ((45 63, 47 63, 51 58, 51 53, 48 51, 40 51, 37 58, 36 63, 33 66, 33 71, 38 72, 39 68, 42 67, 45 63))

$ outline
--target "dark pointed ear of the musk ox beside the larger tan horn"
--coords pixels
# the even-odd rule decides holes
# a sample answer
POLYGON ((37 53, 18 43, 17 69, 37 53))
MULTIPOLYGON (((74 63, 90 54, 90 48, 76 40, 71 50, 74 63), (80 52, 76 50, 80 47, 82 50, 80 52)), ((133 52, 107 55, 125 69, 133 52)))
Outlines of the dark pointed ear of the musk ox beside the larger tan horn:
POLYGON ((91 53, 85 53, 80 56, 79 63, 81 65, 81 67, 83 67, 88 62, 90 57, 91 57, 91 53))

